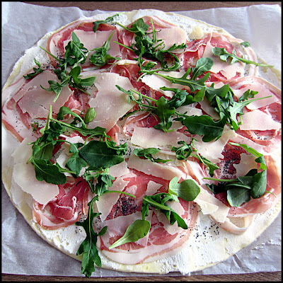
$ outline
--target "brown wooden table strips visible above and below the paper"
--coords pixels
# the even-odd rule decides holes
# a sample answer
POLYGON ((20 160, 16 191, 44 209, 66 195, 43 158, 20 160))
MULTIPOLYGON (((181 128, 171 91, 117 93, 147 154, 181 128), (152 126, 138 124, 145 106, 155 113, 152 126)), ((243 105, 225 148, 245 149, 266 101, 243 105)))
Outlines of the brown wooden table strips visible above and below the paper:
MULTIPOLYGON (((36 4, 40 6, 52 6, 52 7, 71 7, 75 6, 81 8, 85 11, 92 10, 101 10, 101 11, 132 11, 139 8, 154 8, 162 11, 192 11, 192 10, 203 10, 207 8, 220 8, 220 7, 243 7, 257 4, 279 4, 281 2, 270 2, 270 1, 57 1, 57 2, 48 2, 48 1, 31 1, 24 2, 27 4, 36 4)), ((29 276, 29 275, 6 275, 2 274, 2 281, 100 281, 100 282, 112 282, 113 279, 117 282, 163 282, 165 281, 162 276, 150 276, 150 277, 104 277, 104 278, 85 278, 85 277, 60 277, 60 276, 29 276)), ((224 281, 224 282, 255 282, 255 281, 270 281, 270 282, 281 282, 282 281, 282 272, 258 272, 258 273, 246 273, 246 274, 235 274, 235 275, 192 275, 192 276, 166 276, 166 281, 179 281, 179 282, 188 282, 188 281, 224 281)))

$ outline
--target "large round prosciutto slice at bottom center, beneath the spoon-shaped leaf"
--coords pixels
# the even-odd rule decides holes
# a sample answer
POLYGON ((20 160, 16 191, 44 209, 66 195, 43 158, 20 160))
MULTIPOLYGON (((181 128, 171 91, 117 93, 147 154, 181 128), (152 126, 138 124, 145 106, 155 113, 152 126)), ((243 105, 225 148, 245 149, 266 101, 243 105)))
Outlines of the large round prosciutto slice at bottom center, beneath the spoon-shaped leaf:
MULTIPOLYGON (((97 229, 101 229, 101 226, 108 226, 107 232, 100 236, 100 241, 98 241, 100 250, 115 262, 132 265, 158 260, 182 249, 190 236, 190 232, 195 227, 198 215, 195 203, 185 202, 182 199, 178 204, 180 208, 174 207, 173 209, 180 212, 180 216, 189 227, 187 230, 178 226, 171 226, 168 219, 165 221, 160 212, 150 207, 149 216, 146 219, 151 222, 151 229, 146 238, 141 238, 134 243, 123 244, 112 250, 108 249, 112 243, 123 236, 127 227, 134 220, 141 219, 142 198, 146 195, 146 192, 149 192, 149 188, 151 190, 150 195, 168 190, 168 180, 147 175, 141 171, 132 169, 129 175, 122 178, 129 182, 124 191, 133 193, 136 198, 132 199, 132 197, 121 195, 120 200, 113 206, 112 212, 106 220, 102 223, 95 223, 97 229), (153 183, 156 185, 153 185, 153 183)), ((171 204, 168 203, 168 205, 171 204)))

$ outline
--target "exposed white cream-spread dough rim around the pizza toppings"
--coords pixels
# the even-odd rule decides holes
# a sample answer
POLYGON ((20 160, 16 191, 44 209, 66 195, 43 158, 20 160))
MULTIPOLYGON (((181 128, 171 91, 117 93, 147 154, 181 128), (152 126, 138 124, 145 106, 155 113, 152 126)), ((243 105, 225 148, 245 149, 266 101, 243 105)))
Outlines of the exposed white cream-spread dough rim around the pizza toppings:
MULTIPOLYGON (((154 15, 155 11, 132 11, 129 13, 123 13, 120 15, 121 20, 117 20, 119 23, 122 23, 123 25, 127 25, 128 23, 131 23, 132 21, 137 20, 141 16, 151 16, 154 15)), ((112 16, 112 13, 110 14, 103 14, 98 15, 93 18, 91 18, 92 21, 97 21, 101 19, 105 19, 108 16, 112 16)), ((183 16, 178 16, 173 13, 162 13, 161 18, 168 22, 178 22, 181 28, 184 28, 188 35, 192 35, 192 33, 195 33, 195 36, 197 37, 197 32, 200 31, 200 33, 206 33, 207 31, 215 31, 220 34, 228 35, 229 37, 233 37, 232 35, 229 35, 229 33, 226 33, 225 30, 221 28, 214 27, 212 25, 207 25, 206 23, 195 21, 183 16), (199 30, 199 28, 195 27, 201 27, 202 30, 199 30)), ((81 19, 80 19, 81 20, 81 19)), ((54 32, 55 33, 55 32, 54 32)), ((37 59, 41 63, 44 63, 45 60, 47 62, 48 57, 46 57, 46 53, 42 52, 40 50, 39 45, 45 45, 47 42, 48 37, 50 37, 52 33, 48 33, 45 35, 45 37, 40 40, 40 42, 37 43, 37 45, 30 50, 27 50, 25 52, 25 55, 19 59, 19 61, 16 63, 16 66, 13 69, 13 72, 11 76, 9 77, 8 81, 6 82, 4 86, 4 90, 11 86, 11 84, 15 81, 18 81, 18 79, 21 78, 23 74, 26 74, 33 66, 34 62, 33 59, 37 59)), ((255 70, 254 67, 248 66, 248 71, 255 70), (251 69, 251 70, 250 70, 251 69)), ((278 74, 278 73, 277 73, 278 74)), ((260 73, 260 76, 265 76, 265 79, 270 79, 276 81, 276 74, 275 76, 273 73, 267 72, 267 73, 260 73)), ((2 101, 5 98, 2 98, 2 101)), ((8 146, 10 147, 10 146, 8 146)), ((11 149, 10 149, 11 150, 11 149)), ((279 165, 277 165, 279 167, 279 165)), ((59 250, 62 250, 64 253, 67 253, 67 255, 70 255, 73 258, 79 258, 76 255, 74 255, 74 250, 77 249, 78 243, 80 241, 83 241, 83 237, 80 239, 76 239, 76 246, 72 246, 72 241, 69 240, 69 233, 71 233, 72 229, 76 229, 75 226, 68 226, 66 229, 59 229, 54 231, 46 231, 45 229, 42 229, 40 226, 35 224, 32 219, 32 212, 30 209, 30 196, 25 195, 25 202, 21 203, 21 200, 18 200, 18 204, 21 203, 21 206, 19 206, 15 202, 15 197, 11 196, 13 193, 11 191, 17 190, 17 185, 13 183, 12 175, 7 174, 7 172, 12 172, 13 169, 13 160, 11 160, 11 164, 7 164, 7 166, 4 166, 4 174, 3 174, 3 182, 6 187, 6 190, 8 194, 11 197, 11 200, 13 201, 13 204, 19 209, 19 211, 23 214, 26 221, 28 221, 28 224, 32 226, 32 228, 39 234, 42 238, 45 239, 48 243, 52 244, 52 246, 58 248, 59 250), (11 169, 11 170, 9 170, 11 169), (64 230, 64 231, 62 231, 64 230)), ((279 171, 278 171, 279 175, 279 171)), ((20 189, 21 190, 21 189, 20 189)), ((148 263, 142 263, 138 265, 125 265, 125 264, 119 264, 117 262, 113 262, 109 260, 108 258, 103 255, 103 253, 100 253, 100 258, 103 262, 103 267, 108 269, 114 269, 114 270, 120 270, 124 272, 150 272, 150 273, 167 273, 172 271, 180 271, 180 272, 192 272, 196 270, 202 270, 206 267, 209 267, 211 265, 216 264, 217 262, 222 262, 223 260, 226 260, 226 258, 229 258, 229 256, 236 253, 241 248, 247 246, 249 243, 254 241, 255 238, 257 238, 262 231, 264 231, 267 226, 269 226, 272 221, 276 218, 277 214, 280 212, 280 202, 277 202, 277 205, 273 207, 272 209, 268 210, 268 212, 265 212, 264 214, 259 214, 255 221, 253 222, 252 226, 250 226, 250 231, 253 231, 252 233, 244 233, 241 236, 231 236, 231 233, 228 233, 221 229, 220 235, 216 235, 215 231, 213 233, 209 233, 207 231, 207 227, 214 225, 214 222, 209 219, 208 216, 203 215, 200 213, 200 226, 199 230, 195 231, 195 234, 190 237, 190 240, 187 243, 187 247, 185 250, 181 251, 177 255, 173 255, 166 259, 160 259, 156 260, 154 262, 148 262, 148 263), (209 236, 211 238, 202 238, 202 241, 200 243, 197 243, 195 241, 195 238, 197 237, 197 233, 200 233, 202 231, 203 233, 209 233, 209 236), (202 254, 206 255, 204 258, 200 256, 200 258, 197 258, 195 260, 196 254, 202 254), (192 260, 192 258, 194 260, 192 260), (178 265, 176 265, 175 262, 178 262, 178 265)), ((73 230, 74 233, 74 230, 73 230)))

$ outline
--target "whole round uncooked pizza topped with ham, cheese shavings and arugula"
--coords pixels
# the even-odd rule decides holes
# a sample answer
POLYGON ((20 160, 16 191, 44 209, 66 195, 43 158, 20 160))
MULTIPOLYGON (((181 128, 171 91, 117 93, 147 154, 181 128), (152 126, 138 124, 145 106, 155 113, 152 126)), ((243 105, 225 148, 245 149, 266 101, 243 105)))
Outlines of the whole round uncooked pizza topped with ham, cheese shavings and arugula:
MULTIPOLYGON (((105 14, 79 19, 27 50, 3 90, 2 122, 7 134, 18 139, 12 173, 3 179, 28 224, 71 257, 82 260, 88 253, 82 246, 92 233, 86 220, 98 213, 91 225, 96 265, 101 261, 103 268, 125 272, 187 273, 226 260, 279 214, 281 91, 260 77, 260 68, 267 67, 256 66, 258 59, 243 40, 173 13, 149 15, 151 11, 141 10, 110 20, 112 15, 105 14), (97 30, 93 21, 100 21, 97 30), (214 48, 255 64, 230 64, 214 48), (34 76, 23 78, 33 71, 34 76), (216 103, 224 99, 224 91, 226 97, 233 92, 238 103, 261 99, 243 107, 230 101, 226 113, 216 103), (240 110, 231 114, 235 108, 240 110), (89 121, 88 109, 96 113, 89 121), (258 125, 258 120, 264 123, 258 125), (220 134, 190 127, 199 121, 208 121, 207 128, 216 123, 220 134), (48 130, 51 136, 42 141, 48 130), (153 153, 137 154, 146 149, 153 153), (89 169, 91 164, 98 169, 89 169), (62 181, 53 180, 49 170, 62 181), (229 200, 229 189, 213 190, 217 182, 211 177, 238 178, 246 195, 246 187, 258 191, 255 181, 265 180, 267 192, 231 205, 238 197, 229 200), (192 190, 197 193, 189 200, 192 190), (154 198, 158 195, 160 199, 154 198), (166 204, 161 202, 164 196, 166 204), (135 232, 134 241, 111 248, 139 220, 150 223, 146 235, 135 232), (197 241, 200 231, 209 237, 197 241)), ((86 276, 94 271, 83 268, 86 276)))

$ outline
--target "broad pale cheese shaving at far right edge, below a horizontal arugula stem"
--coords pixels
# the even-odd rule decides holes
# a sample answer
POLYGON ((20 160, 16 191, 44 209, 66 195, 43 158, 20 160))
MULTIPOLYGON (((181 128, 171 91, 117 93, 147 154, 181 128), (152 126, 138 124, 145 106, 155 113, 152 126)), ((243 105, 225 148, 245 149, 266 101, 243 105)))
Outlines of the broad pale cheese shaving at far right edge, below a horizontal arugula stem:
POLYGON ((260 110, 253 110, 246 112, 242 115, 243 124, 240 125, 240 129, 258 129, 265 131, 268 129, 281 129, 281 123, 272 120, 270 115, 260 110))

